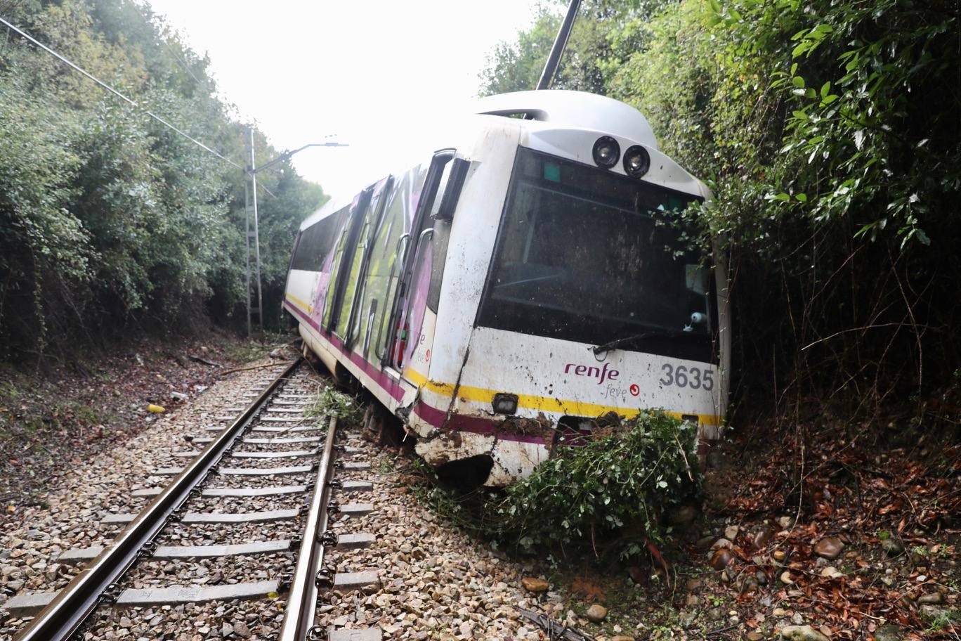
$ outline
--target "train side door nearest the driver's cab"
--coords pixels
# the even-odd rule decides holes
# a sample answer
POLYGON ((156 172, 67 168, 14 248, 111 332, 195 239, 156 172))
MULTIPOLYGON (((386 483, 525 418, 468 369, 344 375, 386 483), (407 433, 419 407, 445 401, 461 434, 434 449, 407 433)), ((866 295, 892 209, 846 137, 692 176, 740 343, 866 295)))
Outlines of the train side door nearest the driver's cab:
MULTIPOLYGON (((395 301, 387 365, 410 382, 426 377, 433 345, 435 309, 428 307, 431 293, 431 273, 435 260, 442 267, 443 256, 434 256, 434 219, 445 186, 450 185, 454 150, 434 155, 421 196, 413 226, 410 229, 408 251, 404 260, 403 276, 395 301), (419 375, 419 376, 418 376, 419 375)), ((458 185, 459 186, 459 185, 458 185)), ((446 249, 446 242, 445 242, 446 249)), ((439 286, 439 279, 438 279, 439 286)))

